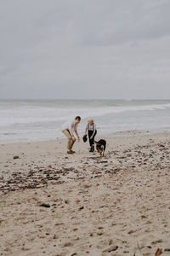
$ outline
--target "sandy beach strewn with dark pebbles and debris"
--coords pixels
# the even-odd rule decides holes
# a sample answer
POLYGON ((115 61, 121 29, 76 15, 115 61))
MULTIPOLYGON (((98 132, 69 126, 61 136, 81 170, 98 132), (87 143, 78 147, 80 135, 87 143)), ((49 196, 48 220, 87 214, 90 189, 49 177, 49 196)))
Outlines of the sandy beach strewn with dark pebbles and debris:
POLYGON ((170 132, 104 138, 0 145, 0 255, 170 255, 170 132))

